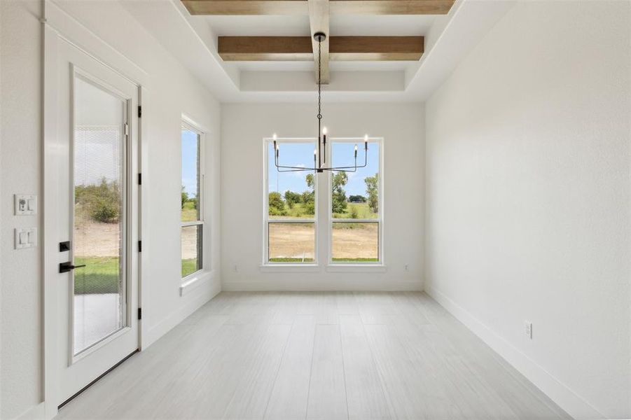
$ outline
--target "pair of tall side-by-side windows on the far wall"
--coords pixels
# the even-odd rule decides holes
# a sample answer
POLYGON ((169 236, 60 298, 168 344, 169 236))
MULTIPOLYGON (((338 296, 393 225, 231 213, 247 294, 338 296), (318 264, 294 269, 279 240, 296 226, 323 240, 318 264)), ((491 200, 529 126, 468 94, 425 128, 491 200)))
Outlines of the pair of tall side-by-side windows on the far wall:
MULTIPOLYGON (((277 145, 279 165, 314 166, 316 141, 278 139, 277 145)), ((273 142, 265 141, 265 265, 319 265, 318 250, 328 265, 383 264, 382 140, 368 141, 366 158, 363 139, 332 139, 326 166, 352 167, 355 146, 362 166, 355 172, 279 172, 273 142), (329 186, 320 198, 318 181, 329 186), (318 232, 328 239, 318 243, 318 232)))

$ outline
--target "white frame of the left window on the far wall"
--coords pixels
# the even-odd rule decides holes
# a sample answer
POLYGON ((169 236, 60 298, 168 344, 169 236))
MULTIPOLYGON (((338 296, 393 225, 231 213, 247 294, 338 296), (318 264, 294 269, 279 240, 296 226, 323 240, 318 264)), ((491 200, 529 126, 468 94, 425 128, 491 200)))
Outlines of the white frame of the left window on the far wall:
MULTIPOLYGON (((268 170, 270 158, 270 145, 273 144, 272 137, 263 138, 263 255, 262 267, 318 267, 319 266, 319 238, 318 238, 318 218, 319 218, 319 176, 314 176, 314 215, 313 218, 287 218, 277 219, 270 218, 269 210, 269 180, 270 171, 268 170), (270 223, 312 223, 314 225, 314 253, 313 261, 310 262, 273 262, 270 261, 270 223)), ((317 147, 318 139, 314 137, 279 137, 276 139, 278 144, 282 143, 313 143, 317 147)))

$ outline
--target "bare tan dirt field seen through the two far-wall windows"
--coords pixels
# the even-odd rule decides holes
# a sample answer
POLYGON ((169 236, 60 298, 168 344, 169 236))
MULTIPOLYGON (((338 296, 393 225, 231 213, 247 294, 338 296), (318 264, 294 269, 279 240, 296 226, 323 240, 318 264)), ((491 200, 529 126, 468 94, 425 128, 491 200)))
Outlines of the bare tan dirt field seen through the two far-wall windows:
MULTIPOLYGON (((377 258, 377 223, 333 229, 333 258, 377 258)), ((270 258, 314 258, 313 225, 270 224, 270 258)))

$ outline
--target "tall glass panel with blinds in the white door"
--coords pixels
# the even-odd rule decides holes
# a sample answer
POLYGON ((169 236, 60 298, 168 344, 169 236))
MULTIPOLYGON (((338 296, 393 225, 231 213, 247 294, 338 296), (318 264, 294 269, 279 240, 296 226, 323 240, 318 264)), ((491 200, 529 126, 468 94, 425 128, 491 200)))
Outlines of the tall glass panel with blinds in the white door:
POLYGON ((74 354, 127 326, 125 123, 127 102, 74 80, 74 354))

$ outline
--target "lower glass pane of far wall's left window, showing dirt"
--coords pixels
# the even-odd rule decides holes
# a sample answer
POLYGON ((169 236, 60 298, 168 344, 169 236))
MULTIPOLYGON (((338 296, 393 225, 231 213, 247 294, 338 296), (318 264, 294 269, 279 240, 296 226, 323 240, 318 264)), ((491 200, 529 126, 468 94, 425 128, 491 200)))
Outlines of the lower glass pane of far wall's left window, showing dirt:
POLYGON ((269 223, 270 262, 313 262, 314 223, 269 223))

